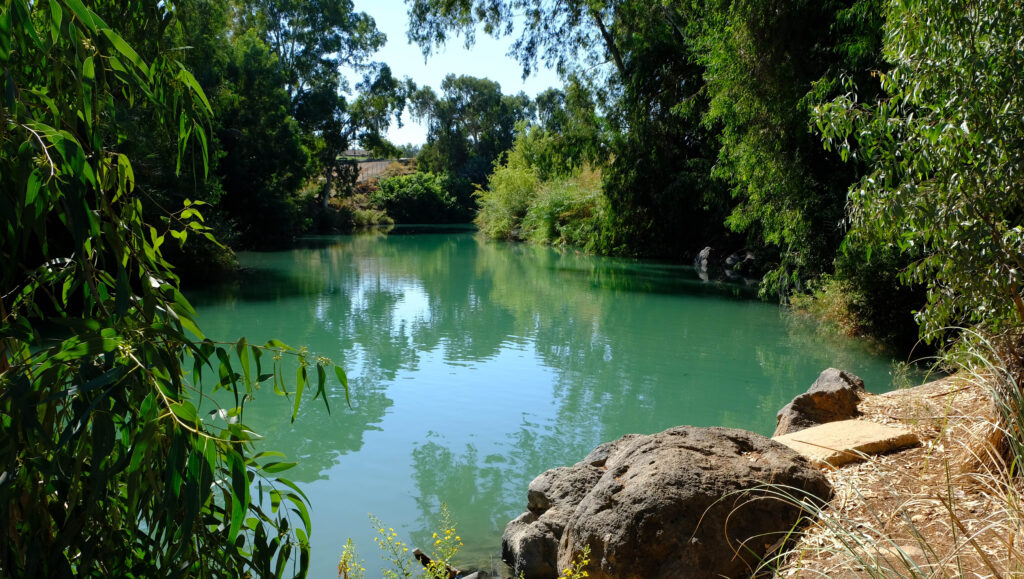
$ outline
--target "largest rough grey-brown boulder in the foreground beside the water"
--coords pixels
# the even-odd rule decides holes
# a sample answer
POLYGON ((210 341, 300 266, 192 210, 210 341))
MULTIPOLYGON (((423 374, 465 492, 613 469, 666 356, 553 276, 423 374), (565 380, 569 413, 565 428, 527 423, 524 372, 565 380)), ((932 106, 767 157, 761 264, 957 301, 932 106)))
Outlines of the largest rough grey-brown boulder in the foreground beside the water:
POLYGON ((769 484, 822 501, 831 493, 805 459, 754 432, 630 435, 538 477, 529 510, 506 529, 503 559, 516 575, 550 579, 589 545, 596 579, 743 576, 800 519, 765 496, 769 484))

